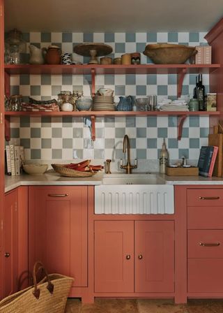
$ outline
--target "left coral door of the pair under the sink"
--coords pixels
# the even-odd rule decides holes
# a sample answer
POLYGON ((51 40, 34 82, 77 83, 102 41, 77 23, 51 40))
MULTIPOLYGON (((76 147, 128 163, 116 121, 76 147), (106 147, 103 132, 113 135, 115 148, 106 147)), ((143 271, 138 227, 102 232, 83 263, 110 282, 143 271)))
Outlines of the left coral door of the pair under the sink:
POLYGON ((134 291, 134 221, 95 221, 95 292, 134 291))

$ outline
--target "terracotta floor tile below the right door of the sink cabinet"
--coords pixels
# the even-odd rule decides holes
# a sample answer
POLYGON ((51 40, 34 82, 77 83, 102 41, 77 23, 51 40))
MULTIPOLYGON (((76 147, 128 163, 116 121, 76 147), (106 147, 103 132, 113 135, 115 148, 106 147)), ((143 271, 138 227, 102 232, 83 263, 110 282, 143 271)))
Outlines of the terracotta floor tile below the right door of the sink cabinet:
MULTIPOLYGON (((137 300, 139 313, 188 313, 185 305, 175 305, 174 300, 137 300)), ((204 312, 203 312, 204 313, 204 312)))

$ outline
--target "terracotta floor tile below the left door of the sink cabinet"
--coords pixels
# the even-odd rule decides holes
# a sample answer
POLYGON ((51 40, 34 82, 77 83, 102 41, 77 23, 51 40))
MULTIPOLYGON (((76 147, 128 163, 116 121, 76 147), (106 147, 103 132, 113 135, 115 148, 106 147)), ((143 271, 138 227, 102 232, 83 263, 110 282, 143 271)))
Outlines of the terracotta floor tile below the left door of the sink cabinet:
POLYGON ((93 305, 82 305, 81 313, 138 313, 137 300, 96 299, 93 305))

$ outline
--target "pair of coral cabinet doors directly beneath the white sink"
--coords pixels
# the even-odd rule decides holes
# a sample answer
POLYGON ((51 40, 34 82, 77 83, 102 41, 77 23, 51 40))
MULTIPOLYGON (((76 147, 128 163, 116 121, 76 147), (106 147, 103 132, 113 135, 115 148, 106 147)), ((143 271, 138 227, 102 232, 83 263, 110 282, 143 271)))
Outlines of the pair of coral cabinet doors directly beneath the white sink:
POLYGON ((173 293, 174 221, 95 221, 95 293, 173 293))

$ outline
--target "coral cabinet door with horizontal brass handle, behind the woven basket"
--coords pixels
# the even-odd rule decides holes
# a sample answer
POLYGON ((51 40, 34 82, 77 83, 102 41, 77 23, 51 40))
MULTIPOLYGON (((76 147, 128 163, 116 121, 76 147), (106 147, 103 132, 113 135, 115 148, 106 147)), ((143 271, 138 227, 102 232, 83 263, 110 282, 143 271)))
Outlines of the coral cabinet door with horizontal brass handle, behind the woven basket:
POLYGON ((29 187, 29 270, 38 260, 87 286, 87 187, 29 187))

